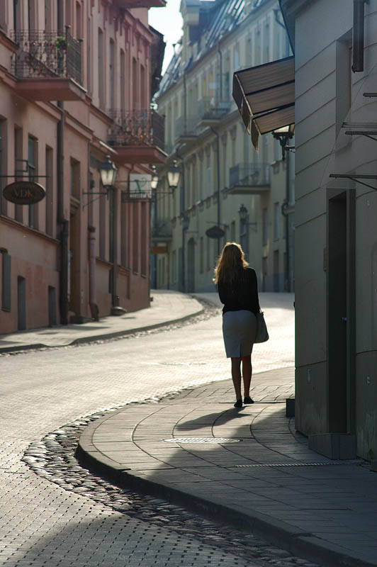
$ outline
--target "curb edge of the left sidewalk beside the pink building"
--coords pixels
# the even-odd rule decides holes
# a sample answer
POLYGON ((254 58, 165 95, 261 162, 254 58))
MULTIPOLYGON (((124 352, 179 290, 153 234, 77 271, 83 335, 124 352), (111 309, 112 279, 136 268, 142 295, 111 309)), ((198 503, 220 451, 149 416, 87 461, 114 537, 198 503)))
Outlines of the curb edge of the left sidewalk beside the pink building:
POLYGON ((106 340, 106 339, 115 339, 116 337, 126 337, 127 335, 133 335, 135 332, 141 331, 150 331, 153 329, 158 329, 159 327, 165 327, 167 325, 172 325, 173 323, 184 322, 188 319, 193 317, 197 317, 204 312, 204 309, 198 310, 195 313, 190 313, 190 315, 184 315, 184 317, 180 317, 178 319, 171 319, 169 321, 162 321, 159 323, 154 323, 154 325, 147 325, 145 327, 135 327, 133 329, 127 329, 123 331, 116 331, 116 332, 109 332, 103 335, 95 335, 94 337, 79 337, 74 339, 71 342, 67 342, 67 344, 43 344, 40 342, 32 343, 32 344, 20 344, 20 345, 13 345, 12 347, 0 347, 0 354, 5 352, 18 352, 22 350, 31 350, 31 349, 62 349, 64 347, 72 347, 75 344, 90 344, 91 342, 106 340))

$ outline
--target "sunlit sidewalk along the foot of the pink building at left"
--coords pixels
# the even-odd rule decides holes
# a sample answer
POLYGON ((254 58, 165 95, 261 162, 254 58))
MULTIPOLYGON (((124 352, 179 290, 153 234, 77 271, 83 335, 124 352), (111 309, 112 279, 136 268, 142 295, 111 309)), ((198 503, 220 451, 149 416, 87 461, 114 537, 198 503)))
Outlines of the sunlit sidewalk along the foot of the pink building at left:
POLYGON ((103 317, 81 325, 57 325, 0 335, 0 353, 43 347, 66 347, 69 344, 93 342, 133 332, 155 329, 171 322, 184 321, 203 312, 195 298, 178 291, 151 290, 149 308, 117 317, 103 317))

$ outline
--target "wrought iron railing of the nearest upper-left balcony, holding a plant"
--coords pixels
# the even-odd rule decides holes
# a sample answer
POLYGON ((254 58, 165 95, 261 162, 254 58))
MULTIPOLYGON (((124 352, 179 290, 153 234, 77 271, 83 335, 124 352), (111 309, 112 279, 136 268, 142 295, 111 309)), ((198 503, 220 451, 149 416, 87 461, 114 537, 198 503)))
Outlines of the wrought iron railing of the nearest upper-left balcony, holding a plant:
POLYGON ((18 78, 67 77, 81 84, 81 41, 66 31, 13 30, 11 68, 18 78))

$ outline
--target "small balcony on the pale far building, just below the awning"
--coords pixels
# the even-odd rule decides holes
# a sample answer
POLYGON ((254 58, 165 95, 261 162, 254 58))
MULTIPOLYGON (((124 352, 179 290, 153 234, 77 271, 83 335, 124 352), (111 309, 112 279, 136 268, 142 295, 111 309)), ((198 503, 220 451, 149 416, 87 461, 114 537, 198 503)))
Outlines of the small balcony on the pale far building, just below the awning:
POLYGON ((229 170, 232 195, 264 195, 271 189, 269 164, 237 164, 229 170))

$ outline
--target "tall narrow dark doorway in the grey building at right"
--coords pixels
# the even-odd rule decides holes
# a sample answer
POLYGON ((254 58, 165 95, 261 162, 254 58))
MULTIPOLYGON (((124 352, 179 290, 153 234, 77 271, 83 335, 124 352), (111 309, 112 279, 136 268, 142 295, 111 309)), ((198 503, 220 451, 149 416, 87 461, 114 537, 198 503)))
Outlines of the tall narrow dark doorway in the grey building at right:
POLYGON ((347 195, 327 208, 328 430, 347 432, 347 195))

